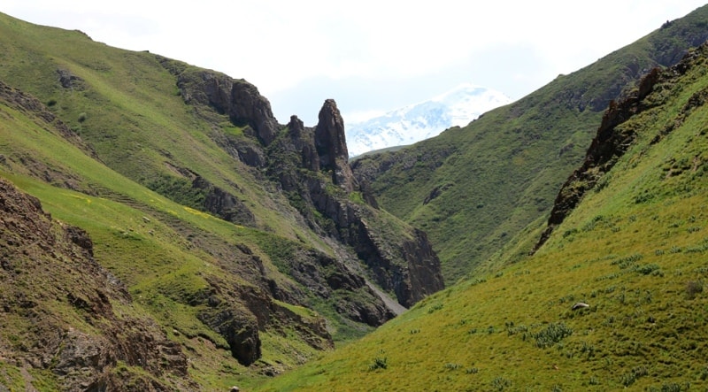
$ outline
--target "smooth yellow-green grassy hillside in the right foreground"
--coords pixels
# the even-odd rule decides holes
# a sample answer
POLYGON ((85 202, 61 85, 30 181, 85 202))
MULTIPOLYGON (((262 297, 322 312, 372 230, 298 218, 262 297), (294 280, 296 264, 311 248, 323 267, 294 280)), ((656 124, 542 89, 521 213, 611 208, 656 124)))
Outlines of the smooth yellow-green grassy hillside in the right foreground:
POLYGON ((661 73, 613 131, 634 142, 535 256, 262 390, 708 388, 706 65, 704 46, 661 73))

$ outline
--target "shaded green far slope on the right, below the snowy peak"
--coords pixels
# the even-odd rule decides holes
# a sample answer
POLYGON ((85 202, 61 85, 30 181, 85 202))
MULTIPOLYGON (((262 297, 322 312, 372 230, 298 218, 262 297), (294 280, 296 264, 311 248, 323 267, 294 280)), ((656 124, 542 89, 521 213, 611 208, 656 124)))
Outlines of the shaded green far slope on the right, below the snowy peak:
POLYGON ((673 65, 704 42, 706 23, 708 7, 699 8, 467 127, 358 159, 354 172, 371 183, 381 208, 427 231, 445 280, 457 281, 543 219, 607 104, 652 67, 673 65))

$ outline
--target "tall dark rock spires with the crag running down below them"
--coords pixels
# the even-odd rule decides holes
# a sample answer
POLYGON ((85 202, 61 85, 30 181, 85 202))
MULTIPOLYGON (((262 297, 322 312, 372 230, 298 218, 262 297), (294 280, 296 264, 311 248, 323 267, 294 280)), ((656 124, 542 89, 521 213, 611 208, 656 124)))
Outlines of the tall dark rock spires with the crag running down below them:
MULTIPOLYGON (((372 271, 373 281, 394 292, 404 306, 411 306, 443 288, 440 261, 427 242, 427 236, 412 228, 387 231, 384 227, 390 225, 386 219, 393 218, 376 211, 371 193, 354 179, 348 162, 342 116, 334 100, 325 101, 319 111, 317 127, 304 127, 302 121, 293 117, 286 135, 289 137, 276 139, 271 146, 269 155, 273 161, 270 171, 279 179, 283 190, 296 195, 293 196, 297 199, 296 205, 311 227, 352 247, 372 271), (322 176, 329 176, 328 173, 331 173, 329 181, 338 187, 327 185, 329 181, 322 176), (364 203, 352 202, 352 192, 360 192, 364 203), (313 210, 327 220, 319 219, 313 210)), ((405 227, 401 222, 398 225, 405 227)), ((327 281, 335 286, 339 284, 339 279, 333 276, 327 281)), ((354 289, 366 289, 364 282, 350 282, 349 285, 354 289)), ((358 311, 350 311, 350 314, 363 312, 368 315, 355 319, 380 325, 386 319, 372 322, 372 311, 375 317, 388 317, 391 313, 379 311, 380 305, 376 304, 375 310, 358 307, 358 311)), ((347 308, 350 306, 340 307, 347 308)))

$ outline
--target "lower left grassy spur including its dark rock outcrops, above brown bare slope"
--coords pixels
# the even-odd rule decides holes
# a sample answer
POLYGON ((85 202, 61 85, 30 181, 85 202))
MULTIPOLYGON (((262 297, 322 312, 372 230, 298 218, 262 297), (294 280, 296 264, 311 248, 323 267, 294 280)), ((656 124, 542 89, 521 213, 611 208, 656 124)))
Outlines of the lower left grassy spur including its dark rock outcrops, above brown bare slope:
MULTIPOLYGON (((170 331, 169 342, 162 345, 169 343, 176 345, 178 351, 189 351, 189 371, 194 373, 183 374, 187 380, 198 377, 201 378, 197 380, 199 385, 207 390, 215 388, 215 385, 221 388, 224 387, 222 382, 235 378, 235 372, 229 369, 245 369, 242 372, 249 380, 260 373, 272 373, 279 368, 296 365, 317 350, 332 347, 325 319, 300 306, 312 294, 308 295, 307 291, 280 273, 270 257, 274 254, 273 250, 261 246, 261 243, 303 252, 296 260, 305 266, 318 265, 320 260, 331 258, 273 234, 235 227, 204 212, 174 204, 128 181, 77 148, 77 144, 81 146, 82 143, 78 142, 76 135, 69 140, 63 137, 66 127, 39 101, 4 85, 0 88, 0 116, 0 135, 4 142, 3 177, 12 179, 40 198, 45 208, 58 219, 86 229, 92 241, 88 240, 89 235, 84 235, 87 240, 81 240, 81 243, 90 245, 93 242, 93 265, 110 271, 113 280, 118 277, 127 286, 126 296, 129 292, 135 298, 135 302, 121 305, 120 316, 124 319, 146 319, 146 322, 155 324, 154 329, 162 331, 161 334, 170 331), (101 189, 103 194, 120 202, 90 196, 71 188, 101 189), (288 345, 282 345, 281 335, 291 336, 288 345), (224 367, 215 367, 214 363, 224 367), (253 366, 247 368, 244 367, 246 365, 253 366)), ((9 222, 15 220, 5 212, 2 219, 9 222)), ((27 230, 23 235, 30 232, 27 230)), ((27 236, 31 238, 31 235, 27 236)), ((54 254, 59 249, 54 250, 53 246, 50 242, 42 250, 54 254)), ((58 242, 57 246, 61 243, 58 242)), ((12 255, 7 257, 12 259, 12 255)), ((79 261, 75 260, 76 263, 79 261)), ((18 276, 37 276, 32 274, 32 264, 24 266, 27 270, 23 265, 18 265, 14 270, 16 274, 8 276, 6 283, 13 286, 12 291, 17 296, 34 296, 46 282, 40 277, 32 285, 25 285, 21 279, 16 279, 18 276)), ((81 269, 81 265, 76 268, 81 269)), ((75 289, 74 283, 89 290, 103 287, 101 275, 89 274, 88 271, 83 282, 64 279, 64 274, 57 274, 50 282, 59 291, 63 289, 69 293, 75 289)), ((74 273, 81 274, 78 271, 74 273)), ((89 294, 89 299, 82 297, 81 301, 89 305, 98 301, 94 299, 95 295, 89 294)), ((126 299, 121 301, 123 304, 127 302, 126 299)), ((23 319, 25 322, 32 321, 25 319, 25 314, 14 307, 9 308, 8 314, 17 318, 12 325, 4 326, 10 328, 3 328, 8 334, 12 334, 12 327, 23 319)), ((60 327, 81 327, 85 330, 81 325, 74 325, 77 319, 70 317, 71 314, 61 312, 55 316, 60 327)), ((334 318, 331 320, 337 321, 334 318)), ((109 327, 112 326, 99 323, 92 325, 91 332, 114 334, 109 327)), ((126 344, 128 338, 127 334, 119 334, 113 344, 126 344)), ((89 349, 93 350, 91 347, 89 349)), ((111 346, 106 347, 109 350, 111 346)), ((138 359, 144 361, 147 357, 158 357, 159 353, 155 350, 160 347, 150 345, 146 352, 141 353, 145 357, 138 359)), ((85 351, 81 353, 85 354, 85 351)), ((115 365, 116 360, 116 357, 107 357, 108 362, 100 365, 102 368, 115 365)), ((22 363, 17 365, 23 366, 22 363)), ((37 371, 48 366, 40 362, 29 365, 37 371)), ((134 357, 130 365, 135 366, 132 372, 141 373, 140 366, 146 364, 136 362, 134 357)), ((73 361, 62 372, 74 373, 83 366, 81 361, 73 361), (71 368, 71 365, 76 368, 71 368)), ((165 364, 168 369, 170 366, 165 364)), ((110 371, 109 367, 106 368, 110 371)), ((14 371, 24 372, 21 369, 14 368, 14 371)), ((156 379, 156 385, 159 385, 176 370, 179 369, 150 377, 161 377, 156 379)), ((96 371, 103 372, 100 368, 96 371)), ((90 375, 85 374, 84 379, 90 375)), ((199 388, 194 382, 190 385, 190 389, 199 388)), ((54 389, 48 387, 43 390, 54 389)))

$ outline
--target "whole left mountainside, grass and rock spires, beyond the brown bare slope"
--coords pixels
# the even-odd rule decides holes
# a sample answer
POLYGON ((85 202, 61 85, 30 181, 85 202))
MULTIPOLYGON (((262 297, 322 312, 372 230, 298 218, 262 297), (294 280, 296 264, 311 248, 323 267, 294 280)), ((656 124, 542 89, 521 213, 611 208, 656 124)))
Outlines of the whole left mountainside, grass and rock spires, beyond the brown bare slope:
POLYGON ((0 51, 0 177, 85 230, 126 317, 186 353, 184 380, 148 369, 155 385, 248 386, 443 288, 425 234, 354 180, 334 102, 295 140, 222 73, 2 14, 0 51))

